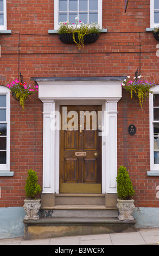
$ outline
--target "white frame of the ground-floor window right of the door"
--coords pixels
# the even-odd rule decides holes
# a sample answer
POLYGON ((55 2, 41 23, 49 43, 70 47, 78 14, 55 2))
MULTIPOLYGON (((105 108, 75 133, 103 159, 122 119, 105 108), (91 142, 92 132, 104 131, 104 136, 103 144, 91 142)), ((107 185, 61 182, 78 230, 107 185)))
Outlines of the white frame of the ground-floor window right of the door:
MULTIPOLYGON (((159 94, 159 85, 151 89, 154 94, 159 94)), ((154 121, 154 95, 149 96, 149 120, 150 120, 150 171, 147 172, 148 175, 159 176, 159 164, 154 163, 154 123, 159 123, 154 121)))

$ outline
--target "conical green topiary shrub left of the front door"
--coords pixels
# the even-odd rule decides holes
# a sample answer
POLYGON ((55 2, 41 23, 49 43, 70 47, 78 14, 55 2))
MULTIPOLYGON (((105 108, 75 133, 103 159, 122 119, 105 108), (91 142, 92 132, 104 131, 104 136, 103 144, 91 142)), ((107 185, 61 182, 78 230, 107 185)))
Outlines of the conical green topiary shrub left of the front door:
POLYGON ((36 195, 41 193, 41 187, 37 184, 38 176, 32 169, 28 170, 28 178, 26 179, 26 197, 35 199, 36 195))

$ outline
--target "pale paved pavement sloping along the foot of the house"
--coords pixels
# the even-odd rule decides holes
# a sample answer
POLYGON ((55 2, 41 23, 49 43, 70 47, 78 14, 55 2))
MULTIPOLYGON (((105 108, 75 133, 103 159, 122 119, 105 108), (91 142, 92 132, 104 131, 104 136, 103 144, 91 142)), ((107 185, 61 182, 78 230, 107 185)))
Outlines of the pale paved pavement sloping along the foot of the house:
POLYGON ((1 245, 51 245, 67 246, 67 248, 69 245, 80 245, 82 247, 93 245, 159 245, 159 228, 144 228, 129 233, 80 235, 35 240, 24 240, 24 237, 15 237, 0 239, 1 245))

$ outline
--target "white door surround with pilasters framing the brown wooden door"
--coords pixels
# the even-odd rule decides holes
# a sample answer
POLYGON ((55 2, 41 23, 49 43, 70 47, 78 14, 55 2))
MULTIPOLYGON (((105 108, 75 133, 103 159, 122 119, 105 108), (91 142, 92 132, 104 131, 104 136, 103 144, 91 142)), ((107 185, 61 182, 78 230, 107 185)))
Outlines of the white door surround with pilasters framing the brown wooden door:
MULTIPOLYGON (((59 193, 59 131, 50 129, 53 111, 60 105, 101 105, 105 134, 102 136, 102 193, 117 193, 117 102, 122 97, 122 78, 112 80, 65 80, 34 78, 43 102, 42 194, 59 193), (50 81, 51 80, 51 81, 50 81), (104 123, 104 120, 108 123, 104 123), (109 124, 108 130, 106 129, 109 124), (108 132, 107 132, 108 131, 108 132), (52 143, 51 143, 52 142, 52 143)), ((58 125, 59 120, 56 119, 58 125)), ((57 125, 56 123, 56 125, 57 125)))

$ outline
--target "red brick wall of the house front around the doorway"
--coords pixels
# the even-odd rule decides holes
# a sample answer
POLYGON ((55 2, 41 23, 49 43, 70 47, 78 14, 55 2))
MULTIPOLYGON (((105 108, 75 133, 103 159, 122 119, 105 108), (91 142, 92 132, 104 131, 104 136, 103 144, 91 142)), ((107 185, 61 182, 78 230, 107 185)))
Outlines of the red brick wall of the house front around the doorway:
MULTIPOLYGON (((150 27, 149 1, 129 1, 124 14, 123 0, 103 1, 103 27, 96 43, 79 51, 76 45, 63 44, 54 29, 53 0, 8 0, 8 27, 11 35, 0 34, 0 85, 7 86, 21 72, 23 80, 31 77, 134 76, 141 74, 159 83, 156 45, 150 27)), ((33 168, 42 185, 42 117, 43 104, 37 94, 26 104, 26 115, 11 98, 10 170, 13 177, 0 177, 0 206, 22 206, 27 170, 33 168)), ((149 107, 144 111, 130 100, 127 92, 118 103, 118 165, 126 166, 135 188, 137 206, 158 207, 156 186, 159 178, 147 176, 149 159, 149 107), (130 136, 128 126, 137 127, 130 136)))

